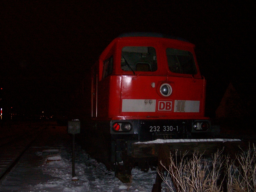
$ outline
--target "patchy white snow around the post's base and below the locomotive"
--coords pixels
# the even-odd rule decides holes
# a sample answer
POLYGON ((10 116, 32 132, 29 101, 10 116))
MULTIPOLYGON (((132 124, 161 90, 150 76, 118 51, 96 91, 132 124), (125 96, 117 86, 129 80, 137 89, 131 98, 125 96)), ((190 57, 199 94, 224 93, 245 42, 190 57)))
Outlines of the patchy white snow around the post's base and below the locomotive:
POLYGON ((114 172, 108 171, 105 165, 90 158, 80 148, 75 163, 75 173, 78 181, 74 182, 72 181, 71 154, 62 150, 61 157, 61 161, 50 161, 49 163, 45 161, 41 165, 43 174, 51 175, 54 179, 31 186, 30 192, 148 192, 152 190, 155 182, 156 171, 145 173, 134 168, 132 170, 132 182, 124 184, 114 176, 114 172))

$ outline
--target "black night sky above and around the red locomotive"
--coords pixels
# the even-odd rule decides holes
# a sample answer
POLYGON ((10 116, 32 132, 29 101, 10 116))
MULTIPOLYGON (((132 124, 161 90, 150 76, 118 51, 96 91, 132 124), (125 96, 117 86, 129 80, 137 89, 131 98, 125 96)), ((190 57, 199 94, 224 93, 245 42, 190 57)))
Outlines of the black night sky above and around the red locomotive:
POLYGON ((1 2, 2 105, 26 114, 70 110, 71 96, 114 38, 159 32, 196 45, 210 116, 230 82, 252 110, 255 10, 254 1, 1 2))

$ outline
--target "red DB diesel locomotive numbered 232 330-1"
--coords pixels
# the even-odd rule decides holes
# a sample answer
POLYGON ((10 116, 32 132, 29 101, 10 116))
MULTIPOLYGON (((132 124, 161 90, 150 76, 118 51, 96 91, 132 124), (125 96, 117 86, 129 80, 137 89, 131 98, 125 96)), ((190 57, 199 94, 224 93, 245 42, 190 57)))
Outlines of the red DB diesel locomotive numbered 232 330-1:
POLYGON ((134 142, 211 136, 194 48, 162 34, 127 33, 100 55, 92 67, 91 115, 111 165, 136 161, 134 142))

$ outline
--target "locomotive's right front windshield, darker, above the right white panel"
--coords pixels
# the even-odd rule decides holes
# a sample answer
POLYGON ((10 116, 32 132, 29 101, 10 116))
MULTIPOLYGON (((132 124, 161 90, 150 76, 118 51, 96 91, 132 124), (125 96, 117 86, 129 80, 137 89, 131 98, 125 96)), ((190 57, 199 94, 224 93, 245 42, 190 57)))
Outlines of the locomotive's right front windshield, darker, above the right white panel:
POLYGON ((195 61, 191 52, 167 48, 166 55, 171 72, 191 75, 197 74, 195 61))

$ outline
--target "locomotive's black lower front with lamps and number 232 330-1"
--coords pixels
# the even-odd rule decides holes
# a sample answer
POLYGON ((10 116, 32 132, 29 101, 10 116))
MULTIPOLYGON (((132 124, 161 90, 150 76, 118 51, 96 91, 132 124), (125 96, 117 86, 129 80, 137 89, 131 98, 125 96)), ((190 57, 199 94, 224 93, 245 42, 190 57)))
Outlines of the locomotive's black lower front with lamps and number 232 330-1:
POLYGON ((111 120, 111 164, 115 175, 123 182, 129 182, 133 166, 143 171, 157 161, 157 157, 134 157, 132 144, 157 139, 199 139, 213 138, 214 132, 208 119, 143 119, 111 120))

